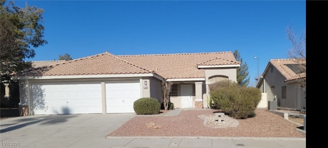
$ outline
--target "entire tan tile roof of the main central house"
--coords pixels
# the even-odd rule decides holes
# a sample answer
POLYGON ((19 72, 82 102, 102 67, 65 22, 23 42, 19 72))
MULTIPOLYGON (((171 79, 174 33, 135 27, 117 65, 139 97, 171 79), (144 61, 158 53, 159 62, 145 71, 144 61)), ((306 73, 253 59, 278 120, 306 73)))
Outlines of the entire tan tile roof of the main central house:
POLYGON ((232 52, 113 55, 105 52, 17 73, 17 76, 72 76, 156 73, 165 79, 204 78, 199 65, 236 67, 232 52))

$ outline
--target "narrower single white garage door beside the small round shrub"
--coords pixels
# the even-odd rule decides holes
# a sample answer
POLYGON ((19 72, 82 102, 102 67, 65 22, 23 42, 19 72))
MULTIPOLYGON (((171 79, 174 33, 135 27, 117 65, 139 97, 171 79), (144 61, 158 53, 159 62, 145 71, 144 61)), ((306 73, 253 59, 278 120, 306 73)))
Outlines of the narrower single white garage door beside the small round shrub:
POLYGON ((133 103, 140 99, 140 83, 106 83, 107 113, 135 113, 133 103))

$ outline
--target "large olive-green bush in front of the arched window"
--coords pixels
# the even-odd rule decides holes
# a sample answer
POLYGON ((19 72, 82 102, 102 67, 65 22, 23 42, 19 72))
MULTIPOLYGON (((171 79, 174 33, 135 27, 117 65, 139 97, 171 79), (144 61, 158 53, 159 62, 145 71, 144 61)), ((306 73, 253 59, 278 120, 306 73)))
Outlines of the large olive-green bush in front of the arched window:
POLYGON ((256 106, 261 99, 261 91, 258 88, 239 87, 235 82, 218 86, 211 90, 210 94, 214 105, 236 119, 254 117, 256 106))

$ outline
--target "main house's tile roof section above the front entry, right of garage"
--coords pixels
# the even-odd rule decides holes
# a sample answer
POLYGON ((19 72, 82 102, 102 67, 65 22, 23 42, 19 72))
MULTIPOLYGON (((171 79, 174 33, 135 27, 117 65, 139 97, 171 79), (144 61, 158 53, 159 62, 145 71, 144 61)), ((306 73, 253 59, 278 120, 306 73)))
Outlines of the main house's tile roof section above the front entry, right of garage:
POLYGON ((233 53, 202 52, 176 54, 117 55, 117 57, 154 70, 166 79, 204 78, 204 69, 197 65, 232 65, 239 63, 233 53))

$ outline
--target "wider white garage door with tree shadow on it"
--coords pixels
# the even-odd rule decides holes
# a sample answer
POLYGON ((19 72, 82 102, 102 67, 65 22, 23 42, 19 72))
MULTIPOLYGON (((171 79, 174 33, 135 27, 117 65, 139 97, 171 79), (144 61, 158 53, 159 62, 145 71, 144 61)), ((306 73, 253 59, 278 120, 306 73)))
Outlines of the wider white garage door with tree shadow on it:
POLYGON ((99 84, 33 84, 34 115, 101 113, 99 84))

